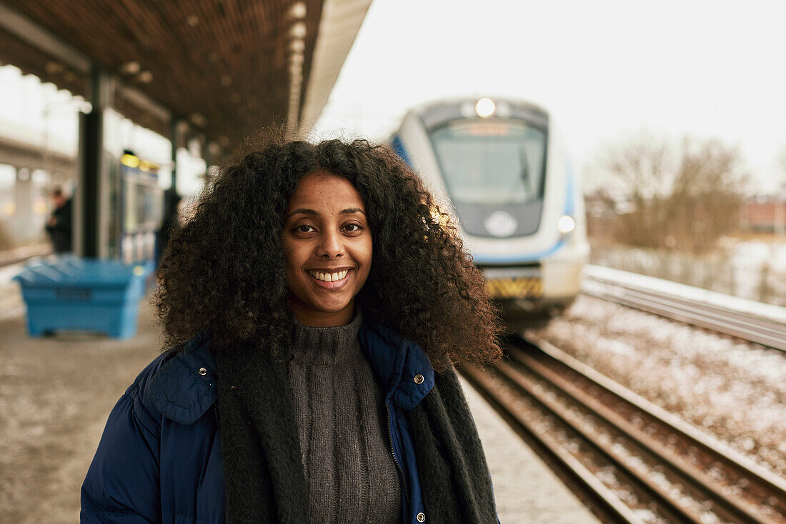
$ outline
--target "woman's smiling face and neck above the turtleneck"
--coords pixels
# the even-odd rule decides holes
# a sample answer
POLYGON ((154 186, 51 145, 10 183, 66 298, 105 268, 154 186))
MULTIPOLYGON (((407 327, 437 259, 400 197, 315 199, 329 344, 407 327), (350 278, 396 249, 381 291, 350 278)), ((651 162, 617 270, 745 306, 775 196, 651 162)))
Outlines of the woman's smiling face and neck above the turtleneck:
POLYGON ((350 181, 322 170, 300 179, 285 213, 284 254, 289 306, 301 324, 352 320, 371 248, 365 204, 350 181))

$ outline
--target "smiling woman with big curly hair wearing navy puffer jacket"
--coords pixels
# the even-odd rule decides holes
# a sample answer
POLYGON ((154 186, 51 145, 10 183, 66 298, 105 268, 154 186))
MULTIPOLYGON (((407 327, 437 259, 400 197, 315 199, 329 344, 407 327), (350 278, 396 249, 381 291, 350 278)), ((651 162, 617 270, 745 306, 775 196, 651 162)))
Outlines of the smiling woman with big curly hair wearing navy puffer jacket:
POLYGON ((390 148, 248 145, 173 233, 166 350, 118 401, 82 522, 498 522, 454 363, 483 277, 390 148))

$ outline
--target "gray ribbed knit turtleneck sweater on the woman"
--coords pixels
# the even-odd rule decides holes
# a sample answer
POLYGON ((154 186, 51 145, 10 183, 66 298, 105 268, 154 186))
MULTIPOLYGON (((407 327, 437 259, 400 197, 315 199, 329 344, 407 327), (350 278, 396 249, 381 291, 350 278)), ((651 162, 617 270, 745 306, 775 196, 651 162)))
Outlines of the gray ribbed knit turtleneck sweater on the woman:
POLYGON ((361 324, 358 312, 345 326, 296 326, 288 376, 314 524, 401 520, 383 391, 358 343, 361 324))

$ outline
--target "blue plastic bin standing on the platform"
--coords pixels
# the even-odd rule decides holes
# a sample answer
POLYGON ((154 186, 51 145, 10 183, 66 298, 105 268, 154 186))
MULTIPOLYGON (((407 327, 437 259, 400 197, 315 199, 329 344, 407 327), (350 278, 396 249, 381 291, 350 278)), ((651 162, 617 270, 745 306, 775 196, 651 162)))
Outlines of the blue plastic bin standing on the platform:
POLYGON ((31 336, 86 331, 129 339, 137 332, 139 301, 152 269, 152 262, 67 256, 32 263, 13 280, 22 286, 31 336))

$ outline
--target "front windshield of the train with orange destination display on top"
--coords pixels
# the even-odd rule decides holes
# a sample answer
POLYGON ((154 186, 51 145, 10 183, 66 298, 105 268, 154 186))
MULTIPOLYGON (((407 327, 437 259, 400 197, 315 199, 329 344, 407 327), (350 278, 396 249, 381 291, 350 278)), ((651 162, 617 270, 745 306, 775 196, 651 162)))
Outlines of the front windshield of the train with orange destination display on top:
POLYGON ((523 120, 455 120, 432 131, 454 203, 527 203, 542 194, 545 131, 523 120))

